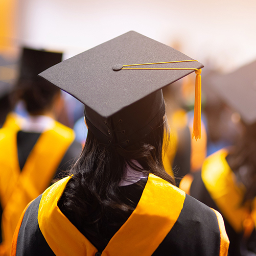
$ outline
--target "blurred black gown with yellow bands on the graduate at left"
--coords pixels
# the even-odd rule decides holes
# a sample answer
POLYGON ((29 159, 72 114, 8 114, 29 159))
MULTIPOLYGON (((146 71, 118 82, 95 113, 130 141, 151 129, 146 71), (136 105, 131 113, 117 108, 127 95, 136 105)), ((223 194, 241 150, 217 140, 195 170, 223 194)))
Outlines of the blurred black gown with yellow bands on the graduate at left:
MULTIPOLYGON (((43 133, 24 132, 18 130, 18 127, 16 129, 6 127, 1 129, 0 134, 1 151, 6 151, 7 154, 6 158, 5 156, 1 157, 4 168, 1 171, 0 218, 2 229, 6 230, 7 234, 5 235, 6 245, 1 244, 0 251, 3 247, 9 254, 12 232, 14 232, 16 221, 18 221, 24 207, 48 188, 52 184, 52 179, 60 176, 61 171, 65 171, 71 166, 81 153, 81 145, 74 141, 74 132, 70 128, 56 121, 51 130, 43 133), (56 150, 62 147, 59 153, 52 154, 53 151, 48 149, 51 145, 49 141, 52 143, 51 147, 56 150), (60 146, 54 144, 60 144, 60 146), (53 155, 51 157, 53 159, 47 158, 49 154, 53 155), (54 159, 55 156, 56 159, 54 159), (53 166, 44 169, 43 164, 48 161, 49 166, 53 166), (40 176, 40 173, 43 174, 43 177, 40 176), (33 188, 33 180, 35 184, 38 183, 35 188, 33 188), (10 182, 13 183, 12 186, 10 186, 10 182), (3 184, 6 184, 6 187, 3 184), (32 184, 31 189, 29 188, 30 184, 32 184), (13 188, 10 189, 11 187, 13 188), (26 192, 24 188, 27 188, 26 192), (14 197, 16 196, 20 199, 15 200, 14 197), (3 227, 2 217, 5 219, 7 228, 3 227)), ((2 243, 2 229, 0 230, 0 243, 2 243)))

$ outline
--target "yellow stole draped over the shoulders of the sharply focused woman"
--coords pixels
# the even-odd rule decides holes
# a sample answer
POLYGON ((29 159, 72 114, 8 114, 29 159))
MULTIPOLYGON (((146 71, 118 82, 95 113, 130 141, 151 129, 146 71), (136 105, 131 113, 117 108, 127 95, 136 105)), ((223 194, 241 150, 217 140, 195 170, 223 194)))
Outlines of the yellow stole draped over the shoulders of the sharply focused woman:
MULTIPOLYGON (((92 256, 98 251, 97 248, 62 214, 57 205, 69 179, 71 177, 56 182, 42 194, 38 224, 57 256, 92 256)), ((183 191, 149 174, 135 210, 101 255, 151 255, 178 219, 184 199, 183 191)))

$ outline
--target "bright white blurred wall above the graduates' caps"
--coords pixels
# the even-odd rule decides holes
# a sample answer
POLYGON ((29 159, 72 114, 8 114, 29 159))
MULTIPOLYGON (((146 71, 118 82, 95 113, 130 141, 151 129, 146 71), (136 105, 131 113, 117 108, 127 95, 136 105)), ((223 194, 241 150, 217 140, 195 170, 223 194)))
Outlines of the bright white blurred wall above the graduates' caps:
POLYGON ((135 30, 226 71, 256 59, 256 1, 19 0, 18 40, 66 57, 135 30))

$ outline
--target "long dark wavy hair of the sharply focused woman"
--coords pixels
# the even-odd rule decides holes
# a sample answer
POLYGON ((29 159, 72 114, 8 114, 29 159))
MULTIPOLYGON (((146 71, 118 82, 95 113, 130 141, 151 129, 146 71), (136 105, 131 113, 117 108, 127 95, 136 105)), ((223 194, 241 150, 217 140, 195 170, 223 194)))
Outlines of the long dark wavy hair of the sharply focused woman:
POLYGON ((129 149, 103 145, 88 130, 81 156, 71 170, 74 176, 64 191, 61 207, 82 234, 86 227, 87 234, 97 236, 95 230, 99 230, 106 212, 125 215, 134 210, 136 205, 127 205, 118 197, 119 183, 125 177, 127 166, 175 183, 162 164, 164 136, 169 134, 167 126, 167 122, 161 122, 129 149), (142 168, 134 165, 134 159, 142 168))

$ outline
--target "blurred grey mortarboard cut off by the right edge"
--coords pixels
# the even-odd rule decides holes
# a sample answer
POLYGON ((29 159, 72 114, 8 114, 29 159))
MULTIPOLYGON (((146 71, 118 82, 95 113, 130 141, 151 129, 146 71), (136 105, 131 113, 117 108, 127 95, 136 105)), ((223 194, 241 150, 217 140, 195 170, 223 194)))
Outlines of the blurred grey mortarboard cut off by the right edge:
POLYGON ((211 80, 212 89, 248 125, 256 122, 256 61, 211 80))

